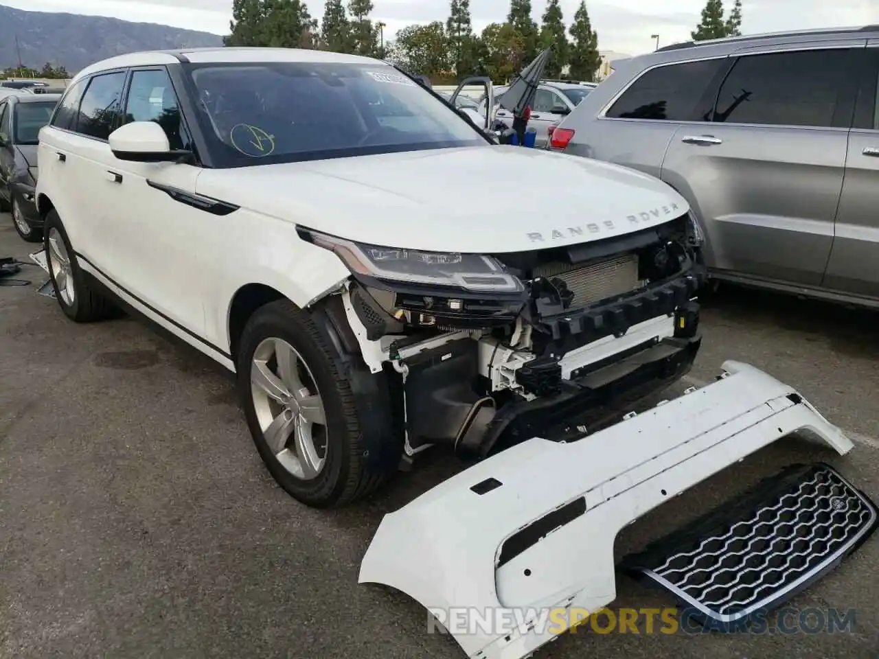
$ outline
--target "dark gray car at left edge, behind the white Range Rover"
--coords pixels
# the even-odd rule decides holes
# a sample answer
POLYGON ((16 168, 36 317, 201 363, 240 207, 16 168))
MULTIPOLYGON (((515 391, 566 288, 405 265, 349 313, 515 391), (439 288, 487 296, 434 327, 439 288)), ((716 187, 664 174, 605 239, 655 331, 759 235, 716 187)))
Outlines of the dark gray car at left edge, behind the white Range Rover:
POLYGON ((58 94, 0 98, 0 210, 11 210, 18 235, 28 243, 42 239, 42 221, 34 204, 37 144, 57 105, 58 94))

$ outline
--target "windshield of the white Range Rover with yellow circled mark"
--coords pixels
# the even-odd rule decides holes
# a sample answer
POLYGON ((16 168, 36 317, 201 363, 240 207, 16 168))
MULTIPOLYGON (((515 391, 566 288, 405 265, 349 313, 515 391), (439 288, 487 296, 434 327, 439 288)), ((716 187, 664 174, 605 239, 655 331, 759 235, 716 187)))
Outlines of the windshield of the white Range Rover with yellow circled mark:
POLYGON ((381 62, 188 70, 199 120, 224 167, 490 143, 449 105, 381 62))

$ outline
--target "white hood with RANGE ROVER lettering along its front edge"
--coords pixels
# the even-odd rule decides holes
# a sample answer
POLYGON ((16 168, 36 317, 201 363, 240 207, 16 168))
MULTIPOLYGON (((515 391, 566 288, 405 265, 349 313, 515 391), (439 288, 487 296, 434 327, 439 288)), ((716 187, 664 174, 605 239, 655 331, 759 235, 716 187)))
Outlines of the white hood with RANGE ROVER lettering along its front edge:
POLYGON ((641 172, 511 146, 204 170, 197 192, 360 243, 461 252, 591 242, 688 209, 641 172))

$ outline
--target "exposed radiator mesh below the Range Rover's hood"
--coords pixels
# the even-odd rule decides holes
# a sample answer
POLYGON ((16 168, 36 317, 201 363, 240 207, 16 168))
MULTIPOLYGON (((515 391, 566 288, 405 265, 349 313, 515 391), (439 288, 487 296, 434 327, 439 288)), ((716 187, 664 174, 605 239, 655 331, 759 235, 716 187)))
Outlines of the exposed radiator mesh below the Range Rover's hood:
POLYGON ((570 292, 574 293, 571 308, 628 293, 645 283, 638 279, 636 254, 624 254, 585 265, 541 264, 534 268, 534 277, 562 279, 570 292))

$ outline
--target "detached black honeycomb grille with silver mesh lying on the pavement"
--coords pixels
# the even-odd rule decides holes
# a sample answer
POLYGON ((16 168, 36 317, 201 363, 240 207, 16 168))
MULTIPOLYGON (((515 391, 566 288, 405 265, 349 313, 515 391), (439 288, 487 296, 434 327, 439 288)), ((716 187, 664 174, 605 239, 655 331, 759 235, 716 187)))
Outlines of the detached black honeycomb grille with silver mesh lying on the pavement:
POLYGON ((873 504, 831 467, 810 467, 786 485, 711 532, 689 533, 640 571, 704 615, 730 621, 801 590, 875 528, 873 504))

